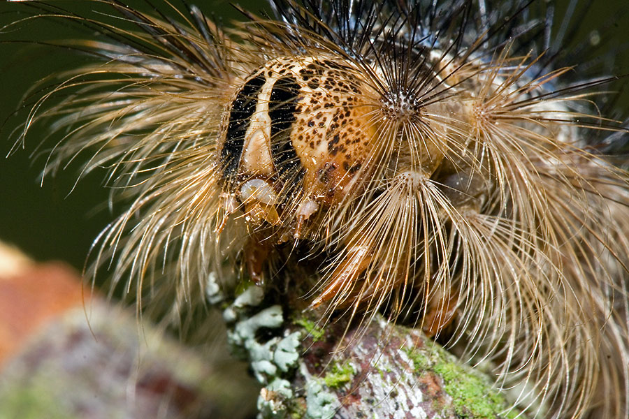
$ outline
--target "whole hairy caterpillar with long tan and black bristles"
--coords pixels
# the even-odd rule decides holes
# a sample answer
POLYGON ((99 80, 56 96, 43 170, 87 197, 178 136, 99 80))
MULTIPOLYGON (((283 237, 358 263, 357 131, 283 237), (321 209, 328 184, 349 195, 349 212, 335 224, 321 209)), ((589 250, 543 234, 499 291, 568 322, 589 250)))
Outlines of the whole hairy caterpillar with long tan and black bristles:
POLYGON ((628 177, 596 140, 623 127, 542 2, 277 0, 236 29, 106 3, 135 28, 41 5, 102 38, 20 138, 52 121, 47 170, 110 168, 127 206, 96 264, 140 305, 299 265, 330 316, 417 325, 551 417, 627 416, 628 177))

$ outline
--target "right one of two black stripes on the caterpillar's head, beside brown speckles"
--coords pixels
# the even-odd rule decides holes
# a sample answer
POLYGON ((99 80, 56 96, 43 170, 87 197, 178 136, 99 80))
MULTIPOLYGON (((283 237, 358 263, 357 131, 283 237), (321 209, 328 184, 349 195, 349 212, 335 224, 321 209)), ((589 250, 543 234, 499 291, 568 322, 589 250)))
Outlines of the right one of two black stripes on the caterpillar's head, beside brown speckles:
POLYGON ((297 98, 300 87, 291 77, 278 79, 270 94, 268 116, 271 121, 271 156, 280 179, 299 182, 303 167, 290 138, 291 126, 296 120, 297 98))

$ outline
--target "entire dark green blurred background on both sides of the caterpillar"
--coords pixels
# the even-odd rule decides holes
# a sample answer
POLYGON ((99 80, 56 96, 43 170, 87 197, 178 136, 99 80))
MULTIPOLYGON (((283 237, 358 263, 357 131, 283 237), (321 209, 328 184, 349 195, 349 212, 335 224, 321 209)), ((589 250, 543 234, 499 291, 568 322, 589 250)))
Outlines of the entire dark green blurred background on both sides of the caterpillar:
MULTIPOLYGON (((564 15, 570 0, 555 1, 556 16, 564 15)), ((69 10, 80 13, 92 8, 103 9, 101 4, 92 1, 54 1, 69 10), (90 4, 92 3, 92 4, 90 4)), ((148 10, 145 1, 126 1, 130 6, 148 10)), ((159 0, 152 3, 160 4, 159 0)), ((173 0, 178 4, 178 0, 173 0)), ((240 13, 226 1, 191 1, 208 14, 230 22, 242 19, 240 13)), ((238 1, 246 10, 261 10, 259 1, 238 1)), ((492 2, 488 1, 491 6, 492 2)), ((584 2, 579 6, 584 6, 584 2)), ((600 56, 612 50, 613 60, 607 59, 608 75, 629 73, 629 15, 626 0, 594 1, 578 22, 572 22, 579 29, 577 38, 591 43, 600 43, 600 56)), ((0 27, 32 14, 33 10, 20 3, 0 3, 0 27)), ((558 20, 556 25, 561 24, 558 20)), ((55 177, 47 177, 40 184, 40 172, 45 164, 45 155, 32 156, 36 145, 44 138, 43 126, 29 133, 25 149, 16 150, 5 159, 15 135, 13 129, 27 117, 31 99, 24 94, 34 82, 45 76, 71 66, 80 65, 85 58, 77 57, 70 50, 43 47, 34 43, 6 43, 22 40, 54 40, 64 38, 89 37, 89 31, 78 31, 68 25, 50 20, 34 20, 17 25, 19 31, 5 28, 0 34, 0 240, 15 244, 37 260, 65 260, 82 268, 89 247, 99 232, 113 219, 107 210, 108 190, 102 187, 104 172, 92 172, 75 185, 79 165, 71 165, 68 170, 55 177), (8 32, 8 33, 7 33, 8 32), (20 103, 27 103, 20 109, 20 103), (72 191, 72 193, 70 193, 72 191)), ((17 28, 16 28, 17 29, 17 28)), ((581 66, 587 63, 576 62, 581 66)), ((579 71, 579 68, 576 70, 579 71)), ((620 89, 616 83, 610 89, 620 89)), ((36 96, 36 94, 35 94, 36 96)), ((616 117, 629 114, 629 95, 626 91, 614 104, 616 117)))

